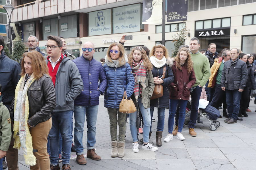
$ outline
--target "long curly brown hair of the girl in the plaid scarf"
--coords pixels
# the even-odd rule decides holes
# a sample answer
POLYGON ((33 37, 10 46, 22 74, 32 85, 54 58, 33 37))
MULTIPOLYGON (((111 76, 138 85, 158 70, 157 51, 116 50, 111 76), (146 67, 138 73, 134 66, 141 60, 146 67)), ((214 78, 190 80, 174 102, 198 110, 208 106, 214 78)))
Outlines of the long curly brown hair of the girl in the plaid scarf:
POLYGON ((151 69, 153 68, 153 65, 149 61, 149 58, 146 54, 146 51, 142 47, 135 47, 131 50, 131 53, 128 55, 129 65, 132 65, 132 63, 133 63, 133 52, 134 52, 134 50, 141 51, 144 66, 146 67, 147 71, 151 71, 151 69))

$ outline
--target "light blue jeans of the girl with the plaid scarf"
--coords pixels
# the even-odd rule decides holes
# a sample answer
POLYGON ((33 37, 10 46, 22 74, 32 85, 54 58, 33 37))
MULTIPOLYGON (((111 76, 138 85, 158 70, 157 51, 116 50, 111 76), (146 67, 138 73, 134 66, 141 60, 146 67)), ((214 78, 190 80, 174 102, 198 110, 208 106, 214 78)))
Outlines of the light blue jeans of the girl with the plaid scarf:
MULTIPOLYGON (((151 114, 150 114, 150 109, 145 108, 143 104, 141 103, 141 98, 138 99, 138 107, 141 111, 142 117, 143 117, 143 142, 148 143, 148 137, 149 137, 149 130, 150 130, 150 125, 151 125, 151 114)), ((136 121, 137 121, 137 111, 129 114, 130 117, 130 130, 131 130, 131 135, 133 138, 133 142, 137 142, 137 126, 136 126, 136 121)))

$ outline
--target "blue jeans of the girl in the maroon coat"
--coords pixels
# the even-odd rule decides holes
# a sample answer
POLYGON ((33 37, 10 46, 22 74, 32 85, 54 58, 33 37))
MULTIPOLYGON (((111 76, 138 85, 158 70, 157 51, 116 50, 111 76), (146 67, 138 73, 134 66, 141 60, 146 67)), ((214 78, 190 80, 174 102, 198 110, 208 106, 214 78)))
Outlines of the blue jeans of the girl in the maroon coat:
POLYGON ((185 113, 186 113, 186 106, 187 100, 174 100, 170 99, 170 109, 169 109, 169 121, 168 121, 168 133, 172 133, 173 124, 174 124, 174 117, 176 114, 177 105, 179 103, 179 128, 178 132, 182 131, 183 124, 185 121, 185 113))

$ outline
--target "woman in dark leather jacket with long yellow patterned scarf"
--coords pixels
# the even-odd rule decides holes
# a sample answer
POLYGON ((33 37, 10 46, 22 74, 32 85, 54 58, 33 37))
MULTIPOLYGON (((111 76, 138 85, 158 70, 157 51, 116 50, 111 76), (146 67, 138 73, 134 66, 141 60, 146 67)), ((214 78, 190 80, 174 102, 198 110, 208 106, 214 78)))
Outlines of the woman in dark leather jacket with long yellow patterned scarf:
POLYGON ((49 170, 47 136, 56 105, 53 82, 44 57, 36 51, 23 54, 21 78, 9 108, 14 118, 14 147, 23 149, 30 169, 49 170))

